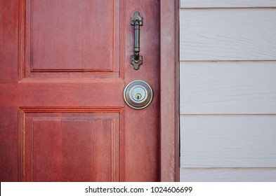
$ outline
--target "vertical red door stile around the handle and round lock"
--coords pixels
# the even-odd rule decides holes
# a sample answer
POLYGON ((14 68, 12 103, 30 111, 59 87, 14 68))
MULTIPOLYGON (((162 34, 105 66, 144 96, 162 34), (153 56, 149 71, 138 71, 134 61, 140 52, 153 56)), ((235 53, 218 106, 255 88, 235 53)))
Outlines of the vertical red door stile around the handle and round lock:
POLYGON ((129 119, 125 121, 125 181, 160 181, 160 39, 157 36, 160 31, 160 1, 127 0, 124 2, 126 8, 125 85, 134 79, 144 80, 151 85, 154 92, 152 103, 146 109, 133 110, 125 104, 126 119, 129 119), (143 17, 143 26, 140 27, 140 55, 143 56, 143 64, 138 71, 135 71, 130 64, 134 41, 134 29, 130 25, 130 18, 137 10, 143 17), (149 120, 151 116, 152 120, 149 120), (148 129, 149 126, 154 127, 148 129))

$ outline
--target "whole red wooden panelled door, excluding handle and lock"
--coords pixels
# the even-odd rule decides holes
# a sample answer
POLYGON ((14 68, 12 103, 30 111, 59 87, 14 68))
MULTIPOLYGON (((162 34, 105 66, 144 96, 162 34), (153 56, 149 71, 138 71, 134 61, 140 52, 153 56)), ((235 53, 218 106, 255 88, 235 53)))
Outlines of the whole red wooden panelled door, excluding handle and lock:
POLYGON ((0 29, 0 181, 159 181, 159 1, 1 0, 0 29))

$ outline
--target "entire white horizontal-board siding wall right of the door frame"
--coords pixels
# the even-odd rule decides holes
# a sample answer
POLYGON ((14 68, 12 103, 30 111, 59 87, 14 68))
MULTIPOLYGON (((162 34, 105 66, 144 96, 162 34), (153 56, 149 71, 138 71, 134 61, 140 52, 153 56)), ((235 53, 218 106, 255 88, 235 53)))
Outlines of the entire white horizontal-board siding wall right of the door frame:
POLYGON ((180 181, 276 181, 276 1, 180 1, 180 181))

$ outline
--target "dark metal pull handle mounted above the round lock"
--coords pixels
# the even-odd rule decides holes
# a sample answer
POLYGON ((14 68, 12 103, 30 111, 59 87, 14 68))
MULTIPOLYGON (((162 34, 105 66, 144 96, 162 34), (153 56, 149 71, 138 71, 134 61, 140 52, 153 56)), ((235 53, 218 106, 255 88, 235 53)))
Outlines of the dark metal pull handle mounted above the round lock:
POLYGON ((131 55, 131 64, 135 70, 143 64, 143 57, 139 55, 140 52, 140 26, 143 25, 143 18, 140 17, 139 12, 135 12, 131 17, 131 25, 134 26, 134 55, 131 55))

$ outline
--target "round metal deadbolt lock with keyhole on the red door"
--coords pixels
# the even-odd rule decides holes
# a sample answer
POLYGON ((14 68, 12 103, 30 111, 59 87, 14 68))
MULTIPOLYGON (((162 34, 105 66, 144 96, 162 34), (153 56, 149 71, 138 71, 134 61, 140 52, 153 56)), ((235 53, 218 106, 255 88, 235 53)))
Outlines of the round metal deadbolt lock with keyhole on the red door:
POLYGON ((152 87, 142 80, 134 80, 124 88, 124 102, 133 109, 145 109, 152 97, 152 87))

